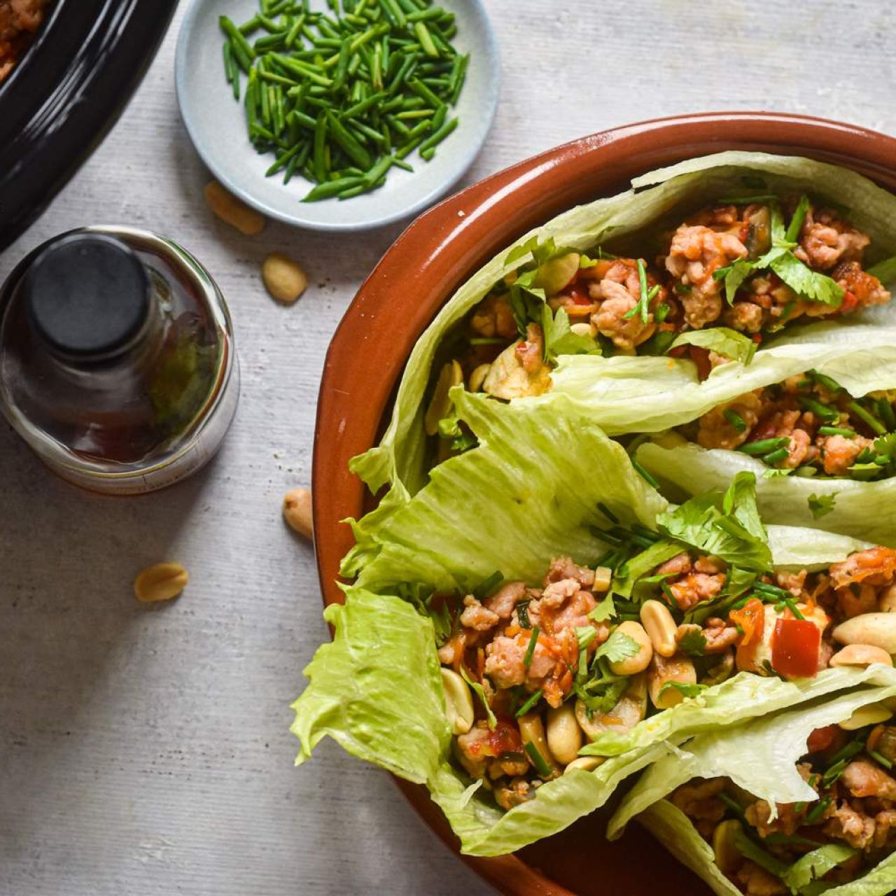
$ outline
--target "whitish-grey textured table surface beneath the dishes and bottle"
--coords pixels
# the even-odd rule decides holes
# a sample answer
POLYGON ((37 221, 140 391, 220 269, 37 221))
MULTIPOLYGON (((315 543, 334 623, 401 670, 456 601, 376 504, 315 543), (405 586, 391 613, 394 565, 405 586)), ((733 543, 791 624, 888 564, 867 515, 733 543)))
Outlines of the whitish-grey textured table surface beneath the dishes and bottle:
MULTIPOLYGON (((896 131, 896 13, 883 0, 490 0, 504 81, 484 177, 602 128, 701 109, 840 117, 896 131)), ((280 496, 310 476, 323 356, 389 228, 240 237, 202 204, 177 116, 176 17, 99 151, 0 255, 0 277, 66 228, 168 233, 211 269, 236 319, 243 395, 223 452, 134 500, 52 478, 0 426, 0 896, 490 892, 388 777, 332 746, 292 768, 289 702, 326 637, 310 547, 280 496), (306 263, 292 308, 263 292, 272 249, 306 263), (184 563, 170 606, 143 566, 184 563)))

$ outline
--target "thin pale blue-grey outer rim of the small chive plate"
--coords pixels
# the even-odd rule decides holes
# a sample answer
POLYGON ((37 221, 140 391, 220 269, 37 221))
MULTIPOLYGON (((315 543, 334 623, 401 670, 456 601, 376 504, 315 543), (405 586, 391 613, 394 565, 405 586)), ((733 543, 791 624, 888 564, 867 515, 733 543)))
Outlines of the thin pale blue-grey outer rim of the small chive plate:
MULTIPOLYGON (((240 198, 243 202, 246 202, 247 205, 261 211, 266 217, 282 221, 290 227, 317 230, 323 233, 361 233, 367 230, 386 227, 389 224, 394 224, 399 221, 410 220, 414 215, 429 208, 434 202, 441 199, 444 194, 448 193, 461 177, 466 174, 470 165, 473 164, 473 161, 478 156, 479 151, 482 150, 488 133, 495 122, 495 114, 497 112, 498 98, 500 95, 501 55, 497 45, 495 29, 488 18, 487 9, 483 0, 466 0, 466 2, 472 5, 474 13, 478 16, 479 21, 482 22, 484 26, 484 34, 488 47, 486 56, 491 64, 491 70, 489 72, 491 84, 489 88, 486 115, 479 117, 478 122, 475 125, 476 130, 474 139, 468 142, 466 148, 459 154, 458 161, 449 176, 445 177, 443 181, 435 185, 426 194, 420 195, 414 202, 410 202, 408 205, 402 206, 395 211, 390 211, 371 220, 351 221, 334 219, 318 221, 304 218, 298 212, 289 214, 289 212, 280 211, 280 209, 275 206, 269 205, 262 199, 257 198, 251 190, 246 189, 243 185, 237 183, 233 177, 230 177, 228 170, 221 167, 219 156, 213 149, 211 149, 211 143, 208 141, 202 128, 196 124, 193 117, 186 111, 186 97, 188 91, 185 82, 186 71, 189 67, 190 40, 196 31, 195 20, 201 13, 203 5, 210 2, 211 0, 192 0, 187 7, 183 22, 181 22, 180 30, 177 34, 177 48, 175 51, 175 90, 177 92, 177 108, 196 154, 202 159, 202 164, 209 169, 212 177, 215 177, 216 180, 227 187, 230 193, 240 198)), ((221 83, 224 83, 223 78, 221 83)), ((296 202, 296 207, 298 210, 301 210, 302 203, 298 202, 298 200, 296 202)), ((333 208, 340 208, 340 206, 334 205, 333 208)))

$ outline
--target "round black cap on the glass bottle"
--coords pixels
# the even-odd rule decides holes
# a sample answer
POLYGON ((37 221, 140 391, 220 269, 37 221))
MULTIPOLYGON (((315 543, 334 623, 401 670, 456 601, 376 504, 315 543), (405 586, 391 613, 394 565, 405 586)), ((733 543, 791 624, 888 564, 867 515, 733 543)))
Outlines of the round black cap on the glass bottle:
POLYGON ((77 362, 128 349, 150 313, 149 274, 114 237, 71 233, 47 243, 22 283, 35 332, 77 362))

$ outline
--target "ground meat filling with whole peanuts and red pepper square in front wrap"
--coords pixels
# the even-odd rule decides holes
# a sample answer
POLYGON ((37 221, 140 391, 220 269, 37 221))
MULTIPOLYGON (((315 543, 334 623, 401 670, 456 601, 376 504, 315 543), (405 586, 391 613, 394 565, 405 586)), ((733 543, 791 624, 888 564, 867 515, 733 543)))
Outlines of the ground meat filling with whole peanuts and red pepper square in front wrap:
MULTIPOLYGON (((601 731, 625 732, 650 708, 661 711, 685 699, 682 691, 664 687, 670 682, 711 686, 737 671, 814 676, 840 650, 832 638, 836 625, 889 606, 896 593, 896 550, 873 547, 825 571, 761 575, 732 598, 729 579, 736 582, 737 577, 728 564, 682 549, 645 573, 652 590, 631 600, 616 594, 616 616, 607 616, 600 604, 615 574, 610 566, 595 569, 559 556, 539 587, 505 582, 484 597, 442 599, 439 612, 450 625, 439 659, 478 687, 475 719, 456 738, 455 754, 472 777, 489 782, 500 806, 533 797, 543 781, 574 761, 582 743, 601 731), (663 612, 677 625, 671 657, 652 650, 642 625, 647 601, 666 607, 663 612), (691 616, 700 607, 710 612, 691 616), (610 650, 626 639, 625 651, 610 650), (602 659, 605 646, 615 659, 602 659), (552 740, 557 713, 566 713, 565 747, 552 740)), ((896 728, 893 742, 896 754, 896 728)), ((840 806, 843 813, 855 808, 850 801, 866 799, 872 789, 896 804, 891 782, 873 778, 872 771, 880 769, 869 771, 856 761, 844 774, 843 786, 850 789, 849 806, 840 806)), ((683 811, 701 831, 719 821, 719 804, 711 802, 719 789, 713 784, 680 792, 683 811)), ((757 830, 772 830, 763 806, 751 811, 757 830)), ((798 823, 799 814, 783 808, 773 827, 780 831, 798 823)), ((881 830, 875 827, 868 836, 879 839, 883 834, 875 831, 881 830)))

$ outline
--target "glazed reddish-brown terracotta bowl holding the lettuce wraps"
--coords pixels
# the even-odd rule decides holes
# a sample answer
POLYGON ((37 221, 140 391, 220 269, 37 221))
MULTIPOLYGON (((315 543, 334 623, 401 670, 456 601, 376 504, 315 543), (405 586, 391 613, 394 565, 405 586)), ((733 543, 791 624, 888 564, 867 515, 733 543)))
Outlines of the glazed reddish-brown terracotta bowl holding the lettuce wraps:
MULTIPOLYGON (((592 134, 520 162, 435 206, 383 256, 333 337, 314 435, 314 533, 323 599, 340 601, 340 520, 369 504, 349 459, 375 444, 418 336, 452 292, 504 246, 560 211, 624 190, 632 177, 694 156, 757 150, 834 162, 896 190, 896 140, 819 118, 717 113, 665 118, 592 134)), ((442 839, 456 840, 424 788, 399 786, 442 839)), ((637 825, 603 838, 606 813, 582 819, 513 856, 465 861, 500 892, 561 896, 710 892, 637 825)))

